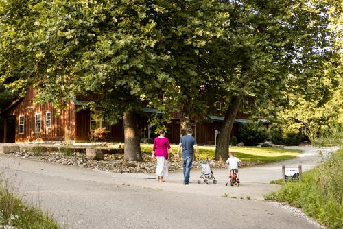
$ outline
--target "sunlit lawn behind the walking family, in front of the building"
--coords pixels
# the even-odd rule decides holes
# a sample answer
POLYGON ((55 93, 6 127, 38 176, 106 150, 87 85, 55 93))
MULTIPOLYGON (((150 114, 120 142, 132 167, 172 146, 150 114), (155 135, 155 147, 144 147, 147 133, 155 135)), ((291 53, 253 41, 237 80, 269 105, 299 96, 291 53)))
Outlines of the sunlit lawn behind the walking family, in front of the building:
MULTIPOLYGON (((171 145, 174 153, 177 152, 178 145, 171 145)), ((215 155, 215 147, 200 146, 200 159, 205 160, 207 157, 213 159, 215 155)), ((152 144, 141 144, 142 152, 151 154, 152 144)), ((230 152, 245 162, 279 162, 281 160, 288 160, 300 154, 297 149, 275 149, 272 147, 230 147, 230 152)))

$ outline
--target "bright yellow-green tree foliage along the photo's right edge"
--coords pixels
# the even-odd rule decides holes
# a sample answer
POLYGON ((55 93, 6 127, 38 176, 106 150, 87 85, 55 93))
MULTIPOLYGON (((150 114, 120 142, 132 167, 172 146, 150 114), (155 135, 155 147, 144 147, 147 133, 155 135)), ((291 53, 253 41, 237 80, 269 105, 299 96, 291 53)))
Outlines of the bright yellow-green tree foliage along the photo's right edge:
MULTIPOLYGON (((310 1, 318 3, 318 1, 310 1)), ((278 122, 281 123, 285 132, 298 132, 300 128, 306 130, 307 134, 313 135, 320 132, 330 132, 331 128, 343 128, 343 19, 342 3, 339 1, 320 1, 327 5, 327 39, 330 42, 327 48, 331 51, 329 58, 318 62, 318 72, 311 71, 313 80, 324 85, 323 90, 316 91, 313 84, 307 84, 305 88, 313 91, 309 96, 296 91, 287 91, 285 96, 289 102, 278 113, 278 122)), ((324 26, 324 25, 323 25, 324 26)))

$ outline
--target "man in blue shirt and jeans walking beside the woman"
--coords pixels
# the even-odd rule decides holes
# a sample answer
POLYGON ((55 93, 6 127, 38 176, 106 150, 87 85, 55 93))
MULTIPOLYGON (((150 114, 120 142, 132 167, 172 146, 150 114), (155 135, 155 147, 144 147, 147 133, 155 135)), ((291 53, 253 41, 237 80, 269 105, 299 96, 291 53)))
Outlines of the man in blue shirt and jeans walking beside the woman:
POLYGON ((182 147, 182 160, 183 160, 183 184, 189 184, 189 173, 191 173, 191 167, 193 162, 193 147, 196 147, 196 153, 199 156, 199 148, 196 143, 196 138, 192 136, 193 130, 191 128, 187 129, 187 135, 182 136, 180 139, 180 144, 178 145, 178 154, 180 154, 180 149, 182 147))

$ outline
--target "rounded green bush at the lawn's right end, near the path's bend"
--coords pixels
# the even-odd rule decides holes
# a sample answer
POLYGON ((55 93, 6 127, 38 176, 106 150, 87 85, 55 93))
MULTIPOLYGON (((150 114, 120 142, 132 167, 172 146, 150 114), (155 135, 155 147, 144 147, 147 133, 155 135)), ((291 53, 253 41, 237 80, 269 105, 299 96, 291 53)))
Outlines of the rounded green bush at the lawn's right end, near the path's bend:
POLYGON ((277 124, 270 126, 270 140, 276 145, 299 145, 304 137, 299 130, 287 130, 277 124))

